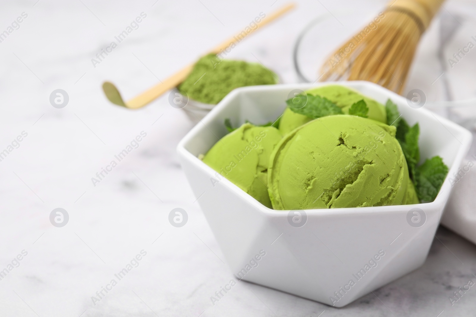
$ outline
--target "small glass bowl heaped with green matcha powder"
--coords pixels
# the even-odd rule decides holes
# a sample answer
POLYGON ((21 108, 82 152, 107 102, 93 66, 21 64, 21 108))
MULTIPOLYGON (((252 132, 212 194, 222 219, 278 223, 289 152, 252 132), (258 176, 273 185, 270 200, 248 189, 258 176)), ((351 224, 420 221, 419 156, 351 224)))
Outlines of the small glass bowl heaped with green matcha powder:
POLYGON ((233 89, 277 82, 278 76, 261 64, 209 54, 197 61, 177 90, 188 98, 183 109, 192 121, 198 122, 233 89))

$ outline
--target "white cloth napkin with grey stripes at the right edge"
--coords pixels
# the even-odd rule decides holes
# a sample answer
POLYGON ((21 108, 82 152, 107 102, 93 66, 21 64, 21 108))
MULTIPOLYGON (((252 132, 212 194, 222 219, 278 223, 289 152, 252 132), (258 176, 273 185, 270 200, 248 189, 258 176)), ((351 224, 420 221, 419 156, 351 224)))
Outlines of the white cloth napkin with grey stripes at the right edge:
MULTIPOLYGON (((448 0, 445 3, 445 8, 440 10, 419 44, 414 65, 408 77, 406 91, 414 88, 423 90, 430 104, 431 102, 446 101, 448 96, 443 93, 445 87, 442 80, 443 76, 441 76, 445 72, 450 100, 475 98, 475 69, 476 2, 448 0), (443 21, 444 19, 446 19, 446 23, 443 21), (448 21, 448 19, 450 20, 448 21), (454 19, 454 21, 451 19, 454 19), (444 48, 444 59, 446 61, 448 58, 454 59, 453 54, 459 53, 458 50, 463 49, 469 42, 475 44, 475 47, 471 48, 466 55, 460 53, 459 61, 453 67, 449 64, 442 67, 437 58, 442 23, 443 26, 446 26, 447 22, 457 23, 457 28, 444 48)), ((474 126, 476 104, 452 108, 449 111, 441 107, 428 106, 427 108, 472 130, 473 144, 461 168, 467 166, 470 160, 474 166, 469 168, 469 171, 462 175, 459 180, 453 175, 448 175, 447 181, 453 183, 454 186, 441 223, 476 244, 476 130, 474 126)))

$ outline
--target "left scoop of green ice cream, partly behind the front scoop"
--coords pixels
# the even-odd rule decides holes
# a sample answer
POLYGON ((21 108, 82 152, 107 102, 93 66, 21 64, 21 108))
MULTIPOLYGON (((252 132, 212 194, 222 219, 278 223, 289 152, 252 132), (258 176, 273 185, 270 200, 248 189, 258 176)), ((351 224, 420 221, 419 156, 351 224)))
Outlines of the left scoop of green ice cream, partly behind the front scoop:
POLYGON ((213 145, 203 162, 271 208, 268 163, 280 139, 281 134, 275 127, 245 123, 213 145))

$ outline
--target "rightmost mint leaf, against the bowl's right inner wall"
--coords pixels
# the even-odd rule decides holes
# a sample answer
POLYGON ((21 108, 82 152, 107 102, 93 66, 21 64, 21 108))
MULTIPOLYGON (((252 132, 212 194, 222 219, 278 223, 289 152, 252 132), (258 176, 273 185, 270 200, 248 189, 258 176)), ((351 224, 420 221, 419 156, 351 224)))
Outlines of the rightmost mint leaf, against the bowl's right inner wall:
POLYGON ((445 181, 448 167, 439 156, 427 159, 415 170, 415 189, 421 202, 433 202, 445 181))

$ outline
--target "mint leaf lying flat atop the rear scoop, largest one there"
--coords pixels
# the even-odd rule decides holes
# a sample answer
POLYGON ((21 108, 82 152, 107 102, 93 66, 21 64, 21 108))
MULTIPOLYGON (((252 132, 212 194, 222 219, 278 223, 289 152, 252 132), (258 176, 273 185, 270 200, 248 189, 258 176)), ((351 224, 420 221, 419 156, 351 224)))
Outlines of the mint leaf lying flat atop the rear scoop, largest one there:
POLYGON ((316 119, 326 115, 342 115, 342 109, 326 98, 312 95, 298 95, 286 100, 288 107, 295 113, 316 119), (304 106, 301 106, 304 104, 304 106))

